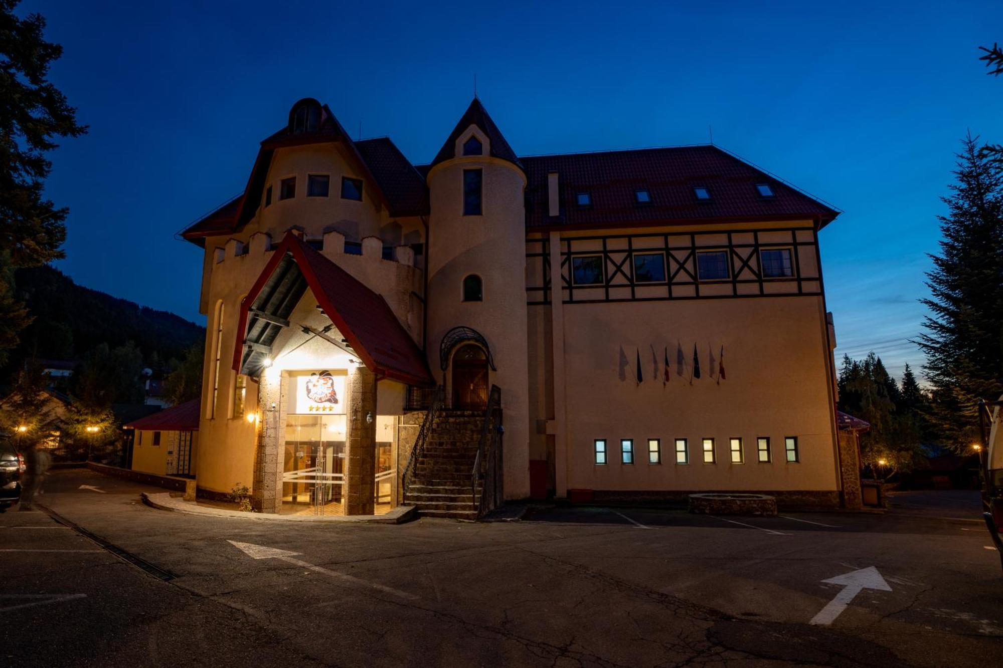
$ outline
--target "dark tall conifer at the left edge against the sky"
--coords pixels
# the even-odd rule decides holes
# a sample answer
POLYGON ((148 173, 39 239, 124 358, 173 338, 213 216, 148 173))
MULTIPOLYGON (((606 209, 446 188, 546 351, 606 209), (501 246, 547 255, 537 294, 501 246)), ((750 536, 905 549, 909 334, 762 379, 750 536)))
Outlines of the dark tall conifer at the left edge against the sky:
POLYGON ((19 0, 0 0, 0 362, 31 320, 14 299, 13 269, 63 257, 67 210, 44 198, 57 136, 79 136, 76 109, 47 80, 62 47, 45 41, 45 19, 18 18, 19 0))

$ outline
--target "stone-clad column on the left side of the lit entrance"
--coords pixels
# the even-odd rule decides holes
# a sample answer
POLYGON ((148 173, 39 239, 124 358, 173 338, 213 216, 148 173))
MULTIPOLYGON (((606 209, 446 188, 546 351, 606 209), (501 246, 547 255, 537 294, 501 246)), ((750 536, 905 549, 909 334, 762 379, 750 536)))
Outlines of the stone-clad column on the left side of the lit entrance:
POLYGON ((258 382, 258 424, 254 457, 252 505, 259 513, 278 513, 282 508, 283 447, 281 429, 281 377, 268 370, 258 382))

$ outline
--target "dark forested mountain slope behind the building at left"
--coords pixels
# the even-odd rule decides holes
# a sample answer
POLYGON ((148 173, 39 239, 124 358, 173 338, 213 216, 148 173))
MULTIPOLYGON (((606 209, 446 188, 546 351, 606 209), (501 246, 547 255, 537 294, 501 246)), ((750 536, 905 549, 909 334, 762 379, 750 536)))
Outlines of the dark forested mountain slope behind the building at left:
POLYGON ((21 331, 0 382, 25 358, 80 360, 101 343, 115 348, 132 341, 146 365, 164 364, 182 359, 206 335, 204 327, 174 313, 76 285, 47 265, 17 270, 15 284, 34 321, 21 331))

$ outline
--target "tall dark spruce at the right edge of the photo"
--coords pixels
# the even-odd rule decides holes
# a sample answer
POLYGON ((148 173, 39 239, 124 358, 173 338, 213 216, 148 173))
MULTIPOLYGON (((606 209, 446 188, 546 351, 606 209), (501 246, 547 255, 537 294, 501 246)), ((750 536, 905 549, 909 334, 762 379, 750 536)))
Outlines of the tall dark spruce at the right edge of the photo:
POLYGON ((942 198, 940 254, 927 274, 932 315, 917 343, 932 386, 927 417, 959 451, 975 438, 976 404, 1003 392, 1003 174, 969 134, 942 198))

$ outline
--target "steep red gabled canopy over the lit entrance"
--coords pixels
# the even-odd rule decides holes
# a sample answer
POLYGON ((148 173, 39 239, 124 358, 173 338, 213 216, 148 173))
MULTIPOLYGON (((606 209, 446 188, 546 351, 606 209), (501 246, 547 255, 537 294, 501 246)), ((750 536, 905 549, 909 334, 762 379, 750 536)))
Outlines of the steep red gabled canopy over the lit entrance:
POLYGON ((432 384, 424 355, 380 295, 291 232, 274 253, 241 304, 235 370, 255 378, 261 375, 279 333, 296 326, 289 316, 310 288, 344 336, 344 347, 366 368, 411 385, 432 384))

